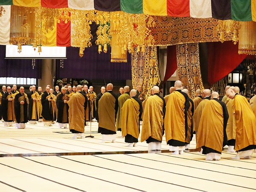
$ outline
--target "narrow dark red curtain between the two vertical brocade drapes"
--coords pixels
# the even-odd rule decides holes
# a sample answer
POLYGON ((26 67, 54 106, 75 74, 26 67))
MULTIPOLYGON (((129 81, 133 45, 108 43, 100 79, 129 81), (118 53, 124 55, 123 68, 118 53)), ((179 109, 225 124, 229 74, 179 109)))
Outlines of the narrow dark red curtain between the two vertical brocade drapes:
POLYGON ((165 83, 177 69, 177 54, 176 45, 167 46, 167 63, 166 73, 164 75, 163 83, 165 83))

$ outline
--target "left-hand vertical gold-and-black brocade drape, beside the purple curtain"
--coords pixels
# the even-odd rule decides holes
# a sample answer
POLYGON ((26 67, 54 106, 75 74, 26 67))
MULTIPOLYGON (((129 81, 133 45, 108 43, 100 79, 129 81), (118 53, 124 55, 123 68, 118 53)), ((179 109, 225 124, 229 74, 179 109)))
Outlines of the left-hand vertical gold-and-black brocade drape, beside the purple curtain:
POLYGON ((161 82, 157 61, 157 47, 146 47, 145 54, 131 54, 131 78, 133 88, 142 85, 145 97, 150 95, 149 89, 161 82))

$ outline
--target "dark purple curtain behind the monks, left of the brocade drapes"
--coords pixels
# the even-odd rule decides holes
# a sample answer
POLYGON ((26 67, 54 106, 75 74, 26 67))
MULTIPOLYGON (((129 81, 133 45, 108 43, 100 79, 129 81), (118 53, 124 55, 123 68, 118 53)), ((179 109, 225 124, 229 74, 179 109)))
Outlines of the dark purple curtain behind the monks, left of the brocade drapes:
POLYGON ((108 52, 98 53, 98 47, 85 48, 84 56, 79 56, 78 47, 67 47, 67 59, 56 60, 57 78, 77 78, 94 80, 131 80, 131 55, 127 63, 111 63, 111 47, 108 52))

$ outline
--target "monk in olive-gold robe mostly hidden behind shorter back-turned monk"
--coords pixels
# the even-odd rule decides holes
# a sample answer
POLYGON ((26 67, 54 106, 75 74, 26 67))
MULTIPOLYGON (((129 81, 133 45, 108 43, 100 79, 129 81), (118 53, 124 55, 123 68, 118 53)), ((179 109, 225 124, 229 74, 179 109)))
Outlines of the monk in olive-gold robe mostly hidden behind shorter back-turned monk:
MULTIPOLYGON (((136 91, 137 94, 137 91, 136 91)), ((125 86, 124 87, 124 94, 120 95, 118 97, 118 111, 116 115, 116 131, 121 131, 121 125, 122 125, 122 106, 125 103, 126 100, 130 98, 130 87, 125 86)))

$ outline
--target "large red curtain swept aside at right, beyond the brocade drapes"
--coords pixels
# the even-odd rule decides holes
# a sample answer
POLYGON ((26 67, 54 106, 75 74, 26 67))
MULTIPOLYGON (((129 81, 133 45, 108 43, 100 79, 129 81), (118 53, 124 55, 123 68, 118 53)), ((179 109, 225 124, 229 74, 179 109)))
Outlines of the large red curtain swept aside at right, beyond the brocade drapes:
POLYGON ((246 56, 246 54, 238 54, 238 43, 236 45, 232 41, 208 43, 209 86, 236 69, 246 56))

